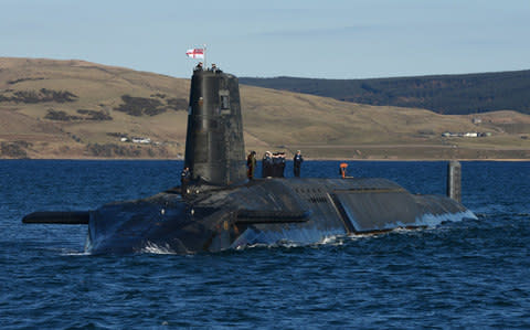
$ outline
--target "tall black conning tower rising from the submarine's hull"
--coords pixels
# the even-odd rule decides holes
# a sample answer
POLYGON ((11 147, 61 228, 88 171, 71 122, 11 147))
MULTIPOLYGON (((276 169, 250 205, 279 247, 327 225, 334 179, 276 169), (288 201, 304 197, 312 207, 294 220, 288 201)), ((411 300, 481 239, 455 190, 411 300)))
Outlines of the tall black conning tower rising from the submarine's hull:
POLYGON ((191 78, 184 167, 192 181, 232 185, 246 181, 237 77, 195 70, 191 78))

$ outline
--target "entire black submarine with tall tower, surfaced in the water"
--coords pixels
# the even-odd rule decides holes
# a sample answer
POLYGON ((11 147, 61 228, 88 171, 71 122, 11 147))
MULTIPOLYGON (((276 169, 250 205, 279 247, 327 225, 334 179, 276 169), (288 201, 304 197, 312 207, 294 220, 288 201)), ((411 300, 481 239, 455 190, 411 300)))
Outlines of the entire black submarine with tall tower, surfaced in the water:
POLYGON ((412 194, 382 178, 248 180, 244 146, 237 77, 198 67, 188 108, 187 184, 96 210, 34 212, 22 222, 87 225, 89 254, 150 247, 194 254, 476 219, 455 199, 412 194))

